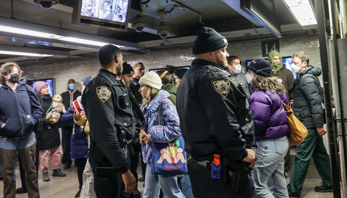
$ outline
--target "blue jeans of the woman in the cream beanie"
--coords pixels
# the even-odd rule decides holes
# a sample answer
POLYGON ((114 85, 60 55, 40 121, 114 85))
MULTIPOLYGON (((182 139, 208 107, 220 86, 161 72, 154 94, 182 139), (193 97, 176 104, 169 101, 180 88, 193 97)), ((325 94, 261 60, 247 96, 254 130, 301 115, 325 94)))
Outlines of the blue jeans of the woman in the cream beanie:
POLYGON ((160 187, 166 198, 185 198, 177 185, 177 175, 156 175, 147 164, 143 198, 159 198, 160 187))

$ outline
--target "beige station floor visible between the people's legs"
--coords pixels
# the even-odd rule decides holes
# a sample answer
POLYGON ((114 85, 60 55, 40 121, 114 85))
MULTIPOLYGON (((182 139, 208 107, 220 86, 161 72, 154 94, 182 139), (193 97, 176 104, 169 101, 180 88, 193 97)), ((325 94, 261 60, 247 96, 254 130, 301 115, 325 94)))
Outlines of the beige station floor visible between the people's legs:
MULTIPOLYGON (((74 198, 78 191, 78 179, 77 169, 74 164, 71 165, 70 169, 63 169, 61 164, 62 172, 66 173, 66 177, 52 177, 52 170, 49 171, 50 181, 42 181, 42 173, 39 172, 39 190, 41 198, 74 198)), ((139 177, 141 177, 141 166, 138 167, 139 177)), ((19 169, 17 163, 16 169, 16 188, 21 187, 19 178, 19 169)), ((289 182, 290 170, 288 172, 287 183, 289 182)), ((314 191, 314 187, 321 185, 320 176, 315 166, 310 166, 308 169, 307 177, 304 183, 301 198, 332 198, 333 193, 325 192, 319 193, 314 191)), ((138 182, 138 190, 143 193, 143 182, 138 182)), ((27 193, 17 194, 16 198, 27 198, 27 193)), ((0 198, 3 198, 3 181, 0 181, 0 198)))

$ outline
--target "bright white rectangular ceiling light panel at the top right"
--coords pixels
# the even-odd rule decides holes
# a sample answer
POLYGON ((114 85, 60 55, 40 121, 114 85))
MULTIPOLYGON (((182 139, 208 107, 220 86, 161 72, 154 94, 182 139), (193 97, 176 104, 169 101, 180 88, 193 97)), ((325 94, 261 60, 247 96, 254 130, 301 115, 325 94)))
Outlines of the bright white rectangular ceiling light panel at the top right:
POLYGON ((301 26, 316 25, 317 20, 309 0, 284 0, 301 26))

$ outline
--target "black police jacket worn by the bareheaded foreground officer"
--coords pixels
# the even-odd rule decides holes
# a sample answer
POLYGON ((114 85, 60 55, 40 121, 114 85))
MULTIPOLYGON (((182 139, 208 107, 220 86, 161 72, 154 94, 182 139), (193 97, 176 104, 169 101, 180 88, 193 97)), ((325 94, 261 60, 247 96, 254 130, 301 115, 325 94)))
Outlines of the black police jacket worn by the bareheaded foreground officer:
MULTIPOLYGON (((125 154, 121 150, 121 131, 126 132, 127 140, 133 139, 136 119, 129 105, 126 87, 116 78, 117 74, 101 68, 87 84, 82 105, 90 123, 91 141, 122 174, 128 168, 125 154)), ((94 156, 96 157, 98 156, 94 156)))

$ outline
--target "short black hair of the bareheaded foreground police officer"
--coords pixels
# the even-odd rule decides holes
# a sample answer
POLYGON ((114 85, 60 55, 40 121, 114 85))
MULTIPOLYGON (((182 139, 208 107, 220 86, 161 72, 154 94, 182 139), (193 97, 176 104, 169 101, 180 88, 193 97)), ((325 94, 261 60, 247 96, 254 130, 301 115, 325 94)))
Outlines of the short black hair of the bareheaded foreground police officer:
POLYGON ((115 45, 104 45, 98 51, 98 58, 102 68, 112 63, 115 56, 120 54, 120 49, 115 45))

